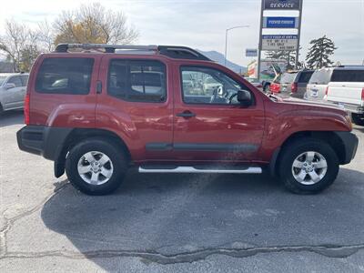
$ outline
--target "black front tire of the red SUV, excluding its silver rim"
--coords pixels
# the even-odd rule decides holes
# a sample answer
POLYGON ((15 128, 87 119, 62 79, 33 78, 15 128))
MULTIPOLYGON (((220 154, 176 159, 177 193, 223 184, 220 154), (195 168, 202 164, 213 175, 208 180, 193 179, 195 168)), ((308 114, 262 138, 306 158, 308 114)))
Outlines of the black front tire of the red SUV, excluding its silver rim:
POLYGON ((295 194, 307 195, 316 194, 329 187, 336 179, 339 173, 339 159, 332 147, 326 142, 305 137, 288 143, 282 149, 279 157, 279 176, 284 186, 295 194), (327 172, 322 179, 313 185, 304 185, 299 183, 292 174, 292 166, 294 160, 302 153, 314 151, 325 157, 327 162, 327 172))

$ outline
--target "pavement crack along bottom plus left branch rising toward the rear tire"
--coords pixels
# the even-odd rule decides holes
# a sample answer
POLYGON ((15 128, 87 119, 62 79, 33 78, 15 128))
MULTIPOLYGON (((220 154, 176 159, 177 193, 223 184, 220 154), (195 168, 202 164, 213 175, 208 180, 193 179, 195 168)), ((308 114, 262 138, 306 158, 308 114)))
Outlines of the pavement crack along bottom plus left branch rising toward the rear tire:
POLYGON ((11 218, 5 217, 5 225, 0 229, 0 260, 5 258, 45 258, 45 257, 61 257, 61 258, 143 258, 148 262, 156 262, 158 264, 177 264, 191 263, 204 260, 211 255, 224 255, 233 258, 247 258, 258 254, 278 253, 278 252, 312 252, 329 258, 348 258, 364 249, 364 244, 358 245, 319 245, 319 246, 277 246, 277 247, 254 247, 254 248, 201 248, 190 252, 181 252, 174 255, 166 255, 156 250, 95 250, 85 252, 75 252, 66 250, 54 250, 43 252, 9 252, 6 246, 6 234, 15 222, 23 217, 29 216, 39 210, 45 203, 68 185, 67 180, 61 181, 56 185, 55 190, 43 199, 35 207, 11 218))

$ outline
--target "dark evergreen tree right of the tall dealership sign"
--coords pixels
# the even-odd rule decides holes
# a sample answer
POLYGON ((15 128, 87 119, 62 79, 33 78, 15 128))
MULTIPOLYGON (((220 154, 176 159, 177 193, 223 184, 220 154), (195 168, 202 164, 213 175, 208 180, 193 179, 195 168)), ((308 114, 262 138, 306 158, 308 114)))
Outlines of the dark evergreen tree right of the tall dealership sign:
POLYGON ((334 63, 330 60, 330 56, 334 54, 334 51, 338 49, 338 47, 335 47, 334 42, 326 35, 312 40, 309 42, 309 45, 311 45, 311 47, 308 48, 308 54, 306 56, 308 68, 321 68, 330 66, 334 63))

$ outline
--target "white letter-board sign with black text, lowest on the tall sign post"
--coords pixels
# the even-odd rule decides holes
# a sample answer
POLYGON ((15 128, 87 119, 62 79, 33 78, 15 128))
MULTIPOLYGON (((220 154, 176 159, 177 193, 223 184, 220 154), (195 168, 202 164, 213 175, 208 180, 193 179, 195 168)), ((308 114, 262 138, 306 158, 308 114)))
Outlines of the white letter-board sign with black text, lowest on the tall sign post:
POLYGON ((298 35, 262 35, 261 45, 262 50, 297 50, 298 35))

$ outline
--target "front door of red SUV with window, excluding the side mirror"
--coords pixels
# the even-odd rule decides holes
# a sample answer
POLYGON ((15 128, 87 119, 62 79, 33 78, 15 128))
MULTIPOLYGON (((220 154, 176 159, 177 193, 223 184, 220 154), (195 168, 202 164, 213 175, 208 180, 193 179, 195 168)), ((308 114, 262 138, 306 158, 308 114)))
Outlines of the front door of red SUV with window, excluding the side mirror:
POLYGON ((257 159, 264 130, 260 96, 237 75, 213 66, 179 66, 174 113, 174 157, 178 161, 248 162, 257 159), (237 99, 240 89, 251 92, 252 106, 237 99))

